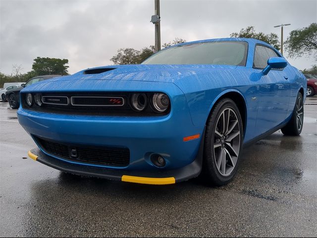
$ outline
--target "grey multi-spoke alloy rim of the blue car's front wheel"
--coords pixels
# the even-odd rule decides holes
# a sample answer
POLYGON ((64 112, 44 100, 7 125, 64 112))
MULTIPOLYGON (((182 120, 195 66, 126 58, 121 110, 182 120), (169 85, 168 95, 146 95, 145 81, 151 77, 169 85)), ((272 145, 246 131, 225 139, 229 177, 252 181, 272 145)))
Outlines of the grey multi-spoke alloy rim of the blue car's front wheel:
POLYGON ((222 176, 229 176, 237 164, 240 133, 236 113, 231 108, 225 108, 217 120, 213 138, 214 159, 222 176))

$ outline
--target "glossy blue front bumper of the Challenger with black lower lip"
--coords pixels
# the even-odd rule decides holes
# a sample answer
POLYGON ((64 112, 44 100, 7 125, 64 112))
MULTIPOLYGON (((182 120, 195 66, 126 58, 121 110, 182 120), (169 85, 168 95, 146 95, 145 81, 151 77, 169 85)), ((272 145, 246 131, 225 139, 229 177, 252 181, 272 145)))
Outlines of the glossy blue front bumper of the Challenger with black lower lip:
MULTIPOLYGON (((145 90, 153 90, 152 84, 145 82, 142 88, 145 87, 148 87, 145 90)), ((131 90, 137 91, 137 88, 131 87, 131 90)), ((37 152, 39 161, 62 171, 117 180, 122 180, 122 176, 125 176, 125 179, 126 176, 173 177, 175 181, 195 177, 201 169, 201 165, 197 164, 197 156, 203 143, 205 126, 193 124, 185 95, 178 87, 170 83, 156 84, 156 90, 166 93, 171 99, 171 111, 168 115, 64 115, 20 107, 17 112, 18 120, 33 138, 42 137, 60 144, 126 147, 130 151, 128 166, 114 167, 67 161, 47 153, 37 143, 41 150, 41 154, 37 152), (184 139, 191 136, 195 138, 184 139), (153 154, 164 157, 166 165, 163 168, 158 168, 151 162, 153 154)))

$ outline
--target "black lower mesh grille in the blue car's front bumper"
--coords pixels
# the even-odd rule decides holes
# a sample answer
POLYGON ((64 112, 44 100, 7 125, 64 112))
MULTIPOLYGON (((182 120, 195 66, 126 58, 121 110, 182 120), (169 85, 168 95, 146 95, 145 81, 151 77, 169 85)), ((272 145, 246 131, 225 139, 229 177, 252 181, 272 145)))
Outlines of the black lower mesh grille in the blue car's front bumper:
POLYGON ((36 136, 35 139, 45 152, 62 159, 117 167, 126 167, 130 163, 130 150, 126 147, 60 144, 36 136))

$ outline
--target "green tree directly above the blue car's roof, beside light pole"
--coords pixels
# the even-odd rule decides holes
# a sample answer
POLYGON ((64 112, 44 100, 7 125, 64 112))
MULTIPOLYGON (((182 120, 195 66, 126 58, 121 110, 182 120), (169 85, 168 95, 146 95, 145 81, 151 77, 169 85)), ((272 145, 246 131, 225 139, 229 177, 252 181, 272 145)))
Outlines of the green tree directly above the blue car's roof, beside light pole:
POLYGON ((275 49, 280 50, 280 44, 278 37, 275 33, 264 34, 263 32, 257 33, 254 26, 248 26, 246 29, 242 28, 240 32, 234 32, 230 34, 230 37, 241 37, 241 38, 254 38, 260 41, 264 41, 272 45, 275 49))

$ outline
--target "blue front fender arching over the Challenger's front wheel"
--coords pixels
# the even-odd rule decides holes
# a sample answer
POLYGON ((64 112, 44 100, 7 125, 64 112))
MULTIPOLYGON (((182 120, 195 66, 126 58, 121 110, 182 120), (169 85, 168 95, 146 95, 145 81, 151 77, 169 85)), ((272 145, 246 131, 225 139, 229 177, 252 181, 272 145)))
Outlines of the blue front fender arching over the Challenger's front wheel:
POLYGON ((205 124, 214 103, 225 93, 237 92, 247 108, 245 141, 252 139, 257 119, 258 102, 253 101, 259 91, 256 81, 250 80, 251 70, 238 66, 236 70, 213 70, 179 80, 175 84, 184 92, 194 125, 205 124), (226 79, 226 80, 224 80, 226 79), (200 83, 197 83, 199 81, 200 83))

